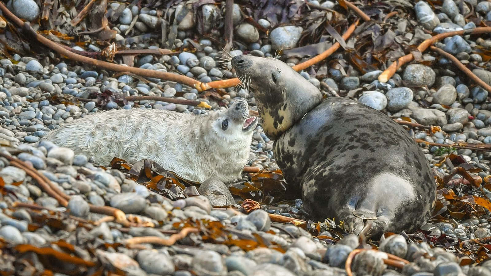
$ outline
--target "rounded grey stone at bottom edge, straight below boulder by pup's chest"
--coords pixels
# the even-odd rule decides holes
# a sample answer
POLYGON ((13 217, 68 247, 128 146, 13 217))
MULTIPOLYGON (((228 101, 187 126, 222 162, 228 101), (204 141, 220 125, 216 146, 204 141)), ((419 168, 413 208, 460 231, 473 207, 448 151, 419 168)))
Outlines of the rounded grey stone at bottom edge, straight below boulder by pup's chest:
POLYGON ((221 255, 215 251, 206 250, 194 256, 191 269, 196 275, 225 275, 226 267, 223 265, 221 255))

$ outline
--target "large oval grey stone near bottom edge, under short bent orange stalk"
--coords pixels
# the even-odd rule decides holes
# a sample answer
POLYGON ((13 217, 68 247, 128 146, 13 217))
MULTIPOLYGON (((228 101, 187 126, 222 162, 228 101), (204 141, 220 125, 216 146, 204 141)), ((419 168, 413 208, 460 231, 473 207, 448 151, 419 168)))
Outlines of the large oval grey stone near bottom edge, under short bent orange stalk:
POLYGON ((141 250, 136 255, 140 268, 154 275, 170 275, 175 266, 167 254, 155 250, 141 250))

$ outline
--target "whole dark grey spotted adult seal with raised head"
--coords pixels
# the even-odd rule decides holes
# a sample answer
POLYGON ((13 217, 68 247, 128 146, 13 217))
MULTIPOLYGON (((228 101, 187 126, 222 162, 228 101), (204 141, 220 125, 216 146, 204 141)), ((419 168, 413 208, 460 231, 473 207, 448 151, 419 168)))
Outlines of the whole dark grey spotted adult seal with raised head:
POLYGON ((265 134, 289 187, 317 220, 355 234, 414 231, 429 219, 436 184, 422 151, 382 112, 321 92, 284 62, 234 56, 254 94, 265 134))

